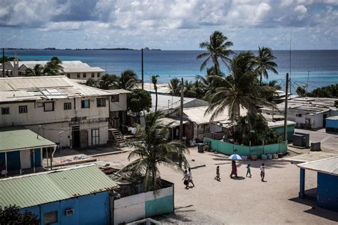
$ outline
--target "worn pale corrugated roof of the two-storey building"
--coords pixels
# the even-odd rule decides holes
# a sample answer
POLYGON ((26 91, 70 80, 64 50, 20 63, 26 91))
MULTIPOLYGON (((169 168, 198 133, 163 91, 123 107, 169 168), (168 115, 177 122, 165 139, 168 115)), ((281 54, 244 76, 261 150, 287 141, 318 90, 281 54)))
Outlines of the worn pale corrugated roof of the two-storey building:
POLYGON ((116 95, 74 83, 66 76, 0 78, 0 102, 116 95))

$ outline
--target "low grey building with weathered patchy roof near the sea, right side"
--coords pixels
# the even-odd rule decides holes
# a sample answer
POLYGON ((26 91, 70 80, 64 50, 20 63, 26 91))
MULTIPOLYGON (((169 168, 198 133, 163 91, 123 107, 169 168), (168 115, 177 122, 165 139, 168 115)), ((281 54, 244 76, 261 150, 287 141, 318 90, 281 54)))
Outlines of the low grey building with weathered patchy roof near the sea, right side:
MULTIPOLYGON (((297 128, 317 129, 325 127, 325 119, 330 116, 334 98, 294 98, 287 103, 287 120, 296 122, 297 128)), ((277 109, 262 108, 263 113, 283 115, 285 103, 277 104, 277 109)))

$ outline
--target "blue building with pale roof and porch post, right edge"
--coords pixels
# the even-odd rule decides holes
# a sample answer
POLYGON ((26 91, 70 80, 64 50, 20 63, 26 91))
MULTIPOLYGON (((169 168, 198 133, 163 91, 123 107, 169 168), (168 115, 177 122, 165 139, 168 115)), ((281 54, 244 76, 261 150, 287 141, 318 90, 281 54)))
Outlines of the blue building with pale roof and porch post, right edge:
POLYGON ((300 168, 299 198, 305 197, 305 169, 317 171, 317 205, 338 211, 338 156, 297 166, 300 168))

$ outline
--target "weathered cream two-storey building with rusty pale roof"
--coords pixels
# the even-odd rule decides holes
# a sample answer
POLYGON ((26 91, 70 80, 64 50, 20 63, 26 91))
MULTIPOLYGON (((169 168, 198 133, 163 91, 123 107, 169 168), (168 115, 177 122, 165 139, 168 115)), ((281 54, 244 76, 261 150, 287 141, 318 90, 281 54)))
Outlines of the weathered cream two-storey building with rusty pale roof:
POLYGON ((63 147, 105 145, 108 127, 124 125, 127 93, 66 76, 0 78, 0 127, 24 126, 63 147))

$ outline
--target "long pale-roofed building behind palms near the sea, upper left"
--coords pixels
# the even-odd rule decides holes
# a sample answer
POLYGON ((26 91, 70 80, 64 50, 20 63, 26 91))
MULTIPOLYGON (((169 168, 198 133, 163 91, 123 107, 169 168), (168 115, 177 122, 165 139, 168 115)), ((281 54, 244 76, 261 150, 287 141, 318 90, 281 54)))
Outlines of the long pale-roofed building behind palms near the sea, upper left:
MULTIPOLYGON (((36 64, 45 66, 48 61, 10 61, 5 62, 6 75, 9 77, 17 77, 26 75, 26 70, 33 69, 36 64)), ((61 75, 77 80, 101 79, 106 71, 99 67, 91 67, 87 63, 81 61, 62 61, 63 71, 61 75)), ((2 71, 2 66, 1 66, 2 71)))

